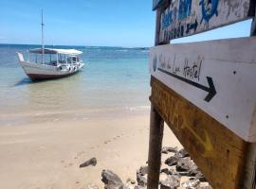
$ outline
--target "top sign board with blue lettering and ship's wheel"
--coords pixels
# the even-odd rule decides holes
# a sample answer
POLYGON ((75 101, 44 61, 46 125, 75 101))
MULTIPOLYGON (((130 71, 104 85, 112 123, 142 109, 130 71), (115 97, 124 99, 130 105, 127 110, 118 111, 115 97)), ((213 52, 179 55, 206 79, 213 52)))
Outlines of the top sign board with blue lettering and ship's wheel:
POLYGON ((254 6, 254 0, 173 0, 161 14, 159 41, 246 20, 254 16, 254 6))

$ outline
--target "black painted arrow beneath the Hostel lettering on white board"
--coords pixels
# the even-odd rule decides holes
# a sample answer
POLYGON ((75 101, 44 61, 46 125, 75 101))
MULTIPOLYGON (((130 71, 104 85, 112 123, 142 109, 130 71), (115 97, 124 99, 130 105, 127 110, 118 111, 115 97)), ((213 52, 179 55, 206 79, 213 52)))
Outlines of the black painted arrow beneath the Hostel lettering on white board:
POLYGON ((201 85, 201 84, 199 84, 199 83, 197 83, 197 82, 194 82, 194 81, 192 81, 192 80, 189 80, 189 79, 187 79, 187 78, 179 77, 179 76, 177 76, 177 75, 175 75, 175 74, 173 74, 173 73, 167 72, 166 70, 163 70, 163 69, 161 69, 161 68, 158 68, 158 70, 159 70, 160 72, 164 73, 164 74, 167 74, 167 75, 169 75, 169 76, 171 76, 171 77, 175 77, 175 78, 177 78, 177 79, 179 79, 179 80, 182 80, 182 81, 184 81, 184 82, 186 82, 186 83, 188 83, 188 84, 190 84, 190 85, 192 85, 192 86, 194 86, 194 87, 196 87, 196 88, 199 88, 199 89, 201 89, 201 90, 203 90, 203 91, 205 91, 205 92, 208 92, 208 95, 207 95, 207 96, 205 97, 205 99, 204 99, 204 100, 207 101, 207 102, 210 102, 210 100, 213 98, 213 96, 214 96, 215 94, 217 94, 217 93, 216 93, 215 86, 214 86, 214 84, 213 84, 213 81, 212 81, 212 78, 211 78, 211 77, 207 77, 207 81, 208 81, 208 84, 209 84, 209 87, 207 87, 207 86, 201 85))

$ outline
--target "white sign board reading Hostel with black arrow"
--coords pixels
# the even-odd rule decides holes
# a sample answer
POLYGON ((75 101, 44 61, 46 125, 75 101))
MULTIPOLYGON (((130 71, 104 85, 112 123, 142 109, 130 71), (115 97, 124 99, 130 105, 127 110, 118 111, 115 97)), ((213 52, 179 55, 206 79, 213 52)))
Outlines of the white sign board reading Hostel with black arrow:
POLYGON ((159 45, 150 72, 247 142, 256 142, 256 38, 159 45))

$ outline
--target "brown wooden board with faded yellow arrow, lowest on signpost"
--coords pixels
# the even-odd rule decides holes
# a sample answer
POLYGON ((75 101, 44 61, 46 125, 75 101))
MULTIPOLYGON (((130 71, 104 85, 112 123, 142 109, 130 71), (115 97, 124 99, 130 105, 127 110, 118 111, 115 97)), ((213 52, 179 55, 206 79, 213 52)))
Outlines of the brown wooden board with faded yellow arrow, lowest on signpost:
POLYGON ((155 77, 151 102, 213 188, 242 188, 244 140, 155 77))

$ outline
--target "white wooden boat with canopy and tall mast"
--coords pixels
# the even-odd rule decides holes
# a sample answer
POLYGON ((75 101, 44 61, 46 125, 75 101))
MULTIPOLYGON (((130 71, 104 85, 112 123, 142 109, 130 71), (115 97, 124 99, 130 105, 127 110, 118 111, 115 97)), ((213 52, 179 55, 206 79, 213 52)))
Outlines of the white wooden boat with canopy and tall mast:
POLYGON ((45 48, 42 10, 42 48, 28 50, 27 60, 17 53, 22 68, 32 80, 59 78, 73 75, 84 65, 79 57, 82 51, 75 49, 45 48))

